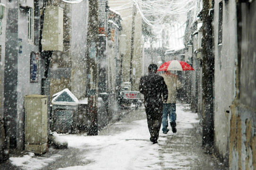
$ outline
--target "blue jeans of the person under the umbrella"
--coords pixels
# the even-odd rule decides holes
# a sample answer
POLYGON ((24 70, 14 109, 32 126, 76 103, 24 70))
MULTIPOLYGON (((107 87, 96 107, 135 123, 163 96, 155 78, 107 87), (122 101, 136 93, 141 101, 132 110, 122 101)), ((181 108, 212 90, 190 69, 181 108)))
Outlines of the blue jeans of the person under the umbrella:
POLYGON ((176 103, 163 103, 162 110, 162 131, 168 132, 168 115, 171 122, 176 122, 176 103))

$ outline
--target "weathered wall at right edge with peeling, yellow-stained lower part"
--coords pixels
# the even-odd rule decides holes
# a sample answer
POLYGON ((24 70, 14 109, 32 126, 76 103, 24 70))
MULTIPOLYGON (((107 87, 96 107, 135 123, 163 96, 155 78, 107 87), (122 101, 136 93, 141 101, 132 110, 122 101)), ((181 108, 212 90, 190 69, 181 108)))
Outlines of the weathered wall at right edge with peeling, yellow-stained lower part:
POLYGON ((238 3, 237 98, 231 105, 230 170, 256 170, 256 1, 238 3))

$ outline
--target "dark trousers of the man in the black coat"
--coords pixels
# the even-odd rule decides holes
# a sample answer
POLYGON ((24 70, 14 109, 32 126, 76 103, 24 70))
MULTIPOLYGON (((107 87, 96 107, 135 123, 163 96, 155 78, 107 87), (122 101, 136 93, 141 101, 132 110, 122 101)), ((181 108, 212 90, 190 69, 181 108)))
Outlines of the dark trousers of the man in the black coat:
POLYGON ((147 126, 150 133, 150 141, 156 142, 162 124, 162 103, 145 103, 147 126))

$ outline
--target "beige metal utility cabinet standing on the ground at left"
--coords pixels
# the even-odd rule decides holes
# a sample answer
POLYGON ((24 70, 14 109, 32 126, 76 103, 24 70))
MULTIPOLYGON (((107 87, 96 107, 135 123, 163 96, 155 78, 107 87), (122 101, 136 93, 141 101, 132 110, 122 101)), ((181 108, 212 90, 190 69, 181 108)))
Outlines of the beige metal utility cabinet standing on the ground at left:
POLYGON ((47 151, 47 96, 26 95, 25 151, 43 154, 47 151))

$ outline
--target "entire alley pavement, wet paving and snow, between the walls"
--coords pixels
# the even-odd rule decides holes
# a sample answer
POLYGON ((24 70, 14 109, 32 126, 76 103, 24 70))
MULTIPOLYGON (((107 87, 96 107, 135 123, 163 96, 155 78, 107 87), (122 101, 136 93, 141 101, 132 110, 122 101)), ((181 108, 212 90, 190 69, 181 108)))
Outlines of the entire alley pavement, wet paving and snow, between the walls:
MULTIPOLYGON (((168 134, 163 134, 160 130, 158 144, 151 144, 149 141, 150 136, 145 120, 143 107, 138 110, 120 110, 115 119, 104 127, 98 136, 89 137, 86 134, 72 136, 73 138, 68 141, 68 149, 49 147, 48 152, 43 155, 35 156, 26 152, 11 153, 10 159, 0 164, 0 170, 64 170, 65 167, 65 170, 228 170, 214 154, 208 153, 202 146, 202 127, 199 125, 197 114, 191 112, 189 105, 177 104, 177 133, 173 134, 170 129, 168 134), (135 124, 135 122, 143 122, 143 124, 135 124), (131 128, 135 129, 129 131, 131 128), (132 137, 123 135, 129 132, 133 133, 130 135, 132 137), (135 133, 137 134, 134 135, 135 133), (116 140, 115 136, 121 137, 116 140), (120 142, 124 136, 128 137, 123 140, 124 142, 120 142), (80 145, 72 144, 74 137, 83 137, 86 141, 80 145), (98 150, 94 150, 92 146, 94 142, 87 141, 95 139, 103 140, 100 144, 102 147, 96 147, 98 150), (133 145, 135 143, 136 145, 133 145), (128 152, 130 156, 126 155, 124 160, 120 160, 121 163, 112 166, 113 162, 106 156, 105 150, 114 147, 116 150, 119 149, 118 153, 124 152, 122 154, 124 156, 128 153, 125 153, 127 151, 122 148, 127 147, 127 144, 133 146, 133 149, 138 152, 137 155, 128 152), (30 159, 21 161, 19 164, 18 158, 24 160, 25 157, 30 159), (100 168, 99 164, 103 168, 100 168)), ((69 139, 70 136, 64 137, 69 139)), ((118 157, 120 156, 117 155, 118 157)), ((114 163, 117 158, 114 158, 114 163)))

